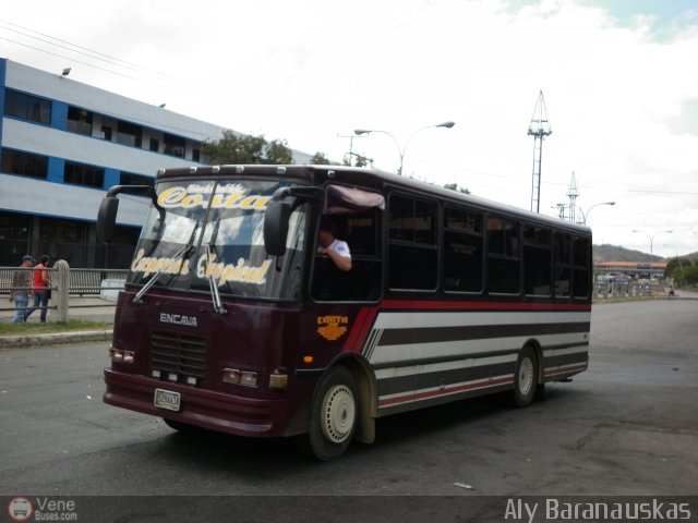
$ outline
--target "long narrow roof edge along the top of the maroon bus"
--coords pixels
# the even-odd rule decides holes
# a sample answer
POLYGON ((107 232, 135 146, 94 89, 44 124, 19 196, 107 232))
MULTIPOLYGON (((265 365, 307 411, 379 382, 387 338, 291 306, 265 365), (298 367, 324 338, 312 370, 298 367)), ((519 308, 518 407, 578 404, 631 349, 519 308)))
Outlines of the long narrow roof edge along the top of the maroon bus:
POLYGON ((327 182, 336 182, 346 185, 356 185, 363 188, 373 188, 376 191, 383 191, 386 186, 393 186, 413 191, 424 196, 433 196, 450 202, 460 202, 482 210, 493 210, 509 216, 518 216, 528 221, 544 223, 558 229, 563 228, 579 233, 591 234, 591 229, 587 226, 563 221, 552 216, 540 215, 512 205, 502 204, 480 196, 472 196, 459 191, 454 191, 432 183, 422 182, 372 168, 316 165, 196 166, 190 168, 160 169, 157 172, 157 180, 160 181, 177 178, 205 179, 241 175, 243 173, 263 178, 288 178, 317 185, 324 185, 327 182))

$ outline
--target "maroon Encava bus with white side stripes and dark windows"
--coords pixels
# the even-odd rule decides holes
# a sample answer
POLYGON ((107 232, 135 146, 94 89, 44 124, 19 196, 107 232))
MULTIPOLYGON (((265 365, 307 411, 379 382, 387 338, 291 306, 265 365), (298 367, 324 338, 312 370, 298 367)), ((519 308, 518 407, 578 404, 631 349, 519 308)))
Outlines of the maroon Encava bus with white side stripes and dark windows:
POLYGON ((375 419, 587 368, 591 231, 376 170, 167 169, 119 294, 105 401, 176 429, 305 435, 320 460, 375 419), (351 250, 318 254, 321 219, 351 250))

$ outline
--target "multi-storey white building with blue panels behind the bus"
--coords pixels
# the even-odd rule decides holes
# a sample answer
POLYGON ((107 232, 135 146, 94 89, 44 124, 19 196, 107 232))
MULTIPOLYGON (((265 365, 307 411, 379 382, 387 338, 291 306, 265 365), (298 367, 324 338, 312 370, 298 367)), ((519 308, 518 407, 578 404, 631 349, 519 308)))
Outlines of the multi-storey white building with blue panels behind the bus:
MULTIPOLYGON (((0 59, 0 266, 48 254, 74 267, 127 267, 147 200, 124 197, 116 245, 95 220, 112 185, 206 163, 224 127, 0 59)), ((293 151, 298 160, 309 155, 293 151)))

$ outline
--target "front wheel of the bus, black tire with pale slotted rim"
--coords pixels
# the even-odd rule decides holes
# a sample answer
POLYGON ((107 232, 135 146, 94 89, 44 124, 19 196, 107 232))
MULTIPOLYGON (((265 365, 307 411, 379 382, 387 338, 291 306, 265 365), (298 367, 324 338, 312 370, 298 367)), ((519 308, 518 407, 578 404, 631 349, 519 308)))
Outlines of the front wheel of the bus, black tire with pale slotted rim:
POLYGON ((305 452, 320 461, 336 460, 351 443, 358 418, 359 394, 351 372, 330 368, 315 390, 305 452))

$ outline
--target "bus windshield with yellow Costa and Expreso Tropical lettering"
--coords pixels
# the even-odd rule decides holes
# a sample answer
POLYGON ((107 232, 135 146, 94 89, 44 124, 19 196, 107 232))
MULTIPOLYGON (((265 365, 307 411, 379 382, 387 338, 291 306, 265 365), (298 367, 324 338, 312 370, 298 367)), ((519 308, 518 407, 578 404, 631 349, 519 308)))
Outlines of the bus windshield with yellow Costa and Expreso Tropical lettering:
POLYGON ((157 186, 129 282, 239 297, 296 300, 300 292, 305 206, 289 221, 286 254, 264 248, 264 209, 286 183, 257 180, 177 181, 157 186))

